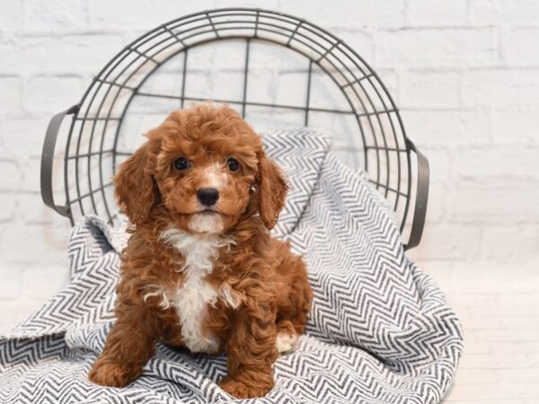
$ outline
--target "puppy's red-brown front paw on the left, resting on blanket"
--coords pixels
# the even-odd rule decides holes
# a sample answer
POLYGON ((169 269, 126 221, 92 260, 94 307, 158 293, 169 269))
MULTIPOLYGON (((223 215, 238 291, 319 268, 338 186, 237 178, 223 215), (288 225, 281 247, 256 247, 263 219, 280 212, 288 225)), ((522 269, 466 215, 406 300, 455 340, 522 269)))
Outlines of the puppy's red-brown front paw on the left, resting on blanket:
POLYGON ((88 380, 102 386, 125 387, 142 373, 139 364, 119 364, 110 360, 98 359, 88 374, 88 380))

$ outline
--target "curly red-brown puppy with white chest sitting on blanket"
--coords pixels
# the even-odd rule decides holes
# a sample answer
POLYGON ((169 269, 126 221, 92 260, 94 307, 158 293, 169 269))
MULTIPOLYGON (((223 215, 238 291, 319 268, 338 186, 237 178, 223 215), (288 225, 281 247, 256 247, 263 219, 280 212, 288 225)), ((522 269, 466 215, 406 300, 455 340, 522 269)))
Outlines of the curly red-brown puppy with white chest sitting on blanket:
POLYGON ((229 107, 176 110, 115 177, 131 236, 115 313, 92 382, 123 387, 155 342, 227 355, 219 385, 265 395, 272 364, 304 332, 312 291, 305 264, 270 237, 287 181, 261 137, 229 107))

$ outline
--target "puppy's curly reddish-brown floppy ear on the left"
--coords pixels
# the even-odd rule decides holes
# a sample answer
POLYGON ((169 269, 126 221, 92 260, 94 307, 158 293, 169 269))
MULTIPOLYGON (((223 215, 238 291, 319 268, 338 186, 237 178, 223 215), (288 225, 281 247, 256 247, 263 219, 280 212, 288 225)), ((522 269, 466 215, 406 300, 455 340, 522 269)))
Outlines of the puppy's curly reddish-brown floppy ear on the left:
POLYGON ((149 150, 150 142, 146 142, 119 166, 114 177, 119 208, 136 225, 146 220, 154 206, 154 170, 149 150))

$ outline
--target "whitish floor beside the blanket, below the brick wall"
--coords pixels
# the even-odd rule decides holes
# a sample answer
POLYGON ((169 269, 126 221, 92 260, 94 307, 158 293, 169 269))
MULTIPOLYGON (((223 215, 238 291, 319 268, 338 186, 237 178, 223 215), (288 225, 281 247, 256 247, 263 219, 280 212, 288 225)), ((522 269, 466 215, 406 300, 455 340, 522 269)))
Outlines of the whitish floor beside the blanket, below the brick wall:
MULTIPOLYGON (((539 403, 539 264, 422 265, 464 327, 464 356, 446 404, 539 403)), ((0 331, 39 306, 0 304, 0 331)))

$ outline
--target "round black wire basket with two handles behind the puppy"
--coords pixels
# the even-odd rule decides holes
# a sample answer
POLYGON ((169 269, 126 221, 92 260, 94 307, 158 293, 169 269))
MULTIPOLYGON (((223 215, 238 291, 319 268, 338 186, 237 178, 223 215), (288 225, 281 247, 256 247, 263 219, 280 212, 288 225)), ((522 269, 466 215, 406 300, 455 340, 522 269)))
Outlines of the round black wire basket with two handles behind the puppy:
POLYGON ((43 201, 72 224, 85 214, 114 224, 119 212, 110 179, 120 160, 143 141, 136 135, 172 109, 206 100, 228 103, 258 130, 269 122, 331 129, 335 153, 365 169, 393 206, 402 233, 409 234, 407 248, 419 244, 429 163, 406 137, 384 83, 330 32, 261 9, 190 14, 122 49, 79 104, 51 119, 41 159, 43 201), (212 77, 219 80, 208 83, 212 77), (53 162, 66 115, 73 116, 61 157, 66 203, 56 205, 53 162))

